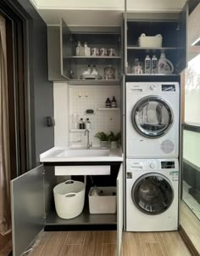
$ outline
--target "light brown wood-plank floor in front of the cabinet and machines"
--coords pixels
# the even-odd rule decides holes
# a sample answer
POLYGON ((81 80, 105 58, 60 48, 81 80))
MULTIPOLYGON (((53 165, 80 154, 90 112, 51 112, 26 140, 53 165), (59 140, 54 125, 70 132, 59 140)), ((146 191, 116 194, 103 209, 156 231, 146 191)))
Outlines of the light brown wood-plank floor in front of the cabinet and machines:
MULTIPOLYGON (((30 256, 116 256, 116 231, 44 232, 30 256)), ((123 256, 189 256, 178 232, 124 232, 123 256)))

